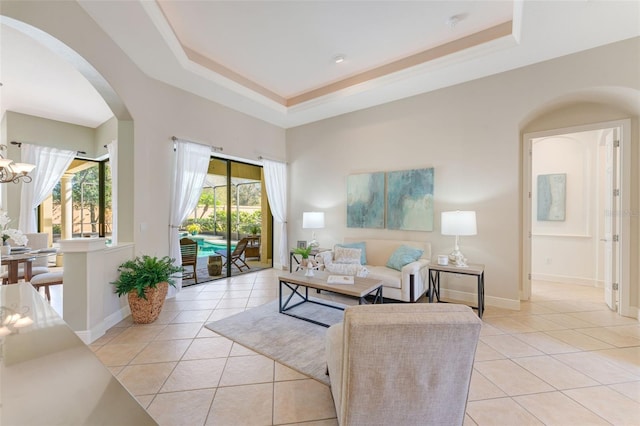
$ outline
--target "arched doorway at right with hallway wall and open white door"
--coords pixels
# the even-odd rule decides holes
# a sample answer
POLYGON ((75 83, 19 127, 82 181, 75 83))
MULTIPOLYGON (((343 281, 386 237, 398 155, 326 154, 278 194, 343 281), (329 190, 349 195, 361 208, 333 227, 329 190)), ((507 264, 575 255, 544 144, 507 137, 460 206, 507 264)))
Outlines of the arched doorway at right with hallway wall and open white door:
POLYGON ((638 253, 630 244, 629 215, 623 214, 630 211, 633 197, 632 124, 630 118, 604 120, 636 113, 620 111, 619 104, 576 102, 548 108, 524 127, 521 294, 525 300, 531 296, 536 280, 573 281, 602 288, 603 303, 607 299, 611 309, 635 316, 631 296, 637 281, 632 279, 630 259, 638 253), (573 117, 580 115, 592 118, 576 123, 573 117), (611 143, 609 149, 607 141, 611 143), (620 147, 613 148, 614 143, 620 147), (608 157, 608 153, 615 156, 608 157), (607 169, 607 160, 617 159, 617 168, 607 169), (614 173, 613 181, 607 181, 607 170, 614 173), (537 211, 544 204, 540 180, 550 177, 559 178, 566 191, 566 217, 548 218, 537 211))

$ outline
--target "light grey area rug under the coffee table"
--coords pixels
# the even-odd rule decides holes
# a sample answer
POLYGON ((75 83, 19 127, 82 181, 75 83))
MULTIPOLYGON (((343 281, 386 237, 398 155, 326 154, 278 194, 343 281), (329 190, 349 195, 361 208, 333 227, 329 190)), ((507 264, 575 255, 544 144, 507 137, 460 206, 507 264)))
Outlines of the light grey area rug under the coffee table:
MULTIPOLYGON (((326 303, 324 300, 323 302, 326 303)), ((291 313, 326 324, 340 322, 344 316, 342 310, 313 303, 297 306, 291 313)), ((206 327, 287 367, 329 384, 324 353, 327 328, 279 313, 278 300, 211 322, 206 327)))

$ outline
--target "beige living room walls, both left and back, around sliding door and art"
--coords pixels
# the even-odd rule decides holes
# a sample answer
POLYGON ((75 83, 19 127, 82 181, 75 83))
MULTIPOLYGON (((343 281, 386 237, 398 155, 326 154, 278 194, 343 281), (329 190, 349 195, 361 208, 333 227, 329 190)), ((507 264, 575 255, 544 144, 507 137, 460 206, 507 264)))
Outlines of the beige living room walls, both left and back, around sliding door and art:
MULTIPOLYGON (((3 3, 2 13, 48 32, 77 51, 126 105, 133 136, 127 144, 130 175, 125 173, 126 179, 120 182, 119 202, 131 209, 124 220, 130 221, 127 226, 138 253, 168 252, 170 137, 175 135, 223 146, 225 154, 235 157, 255 159, 259 150, 266 157, 287 158, 290 246, 298 239, 309 239, 301 229, 302 212, 321 209, 327 213, 326 228, 317 232, 323 246, 345 236, 366 235, 428 240, 434 254, 446 253, 453 239, 439 234, 439 213, 476 210, 478 235, 462 238, 461 248, 471 261, 486 264, 487 302, 517 307, 522 135, 632 118, 631 155, 636 166, 639 160, 637 38, 285 131, 148 78, 75 2, 8 2, 3 3), (591 108, 592 102, 599 106, 591 108), (567 109, 568 105, 574 107, 567 109), (554 110, 559 114, 545 115, 554 110), (426 166, 435 168, 434 232, 345 227, 349 174, 426 166)), ((640 185, 635 169, 631 229, 632 246, 637 247, 640 185)), ((633 259, 640 263, 637 249, 633 259)), ((635 268, 632 277, 637 288, 635 268)), ((446 285, 460 294, 475 292, 474 284, 464 278, 451 279, 446 285)), ((637 291, 634 297, 638 306, 637 291)))

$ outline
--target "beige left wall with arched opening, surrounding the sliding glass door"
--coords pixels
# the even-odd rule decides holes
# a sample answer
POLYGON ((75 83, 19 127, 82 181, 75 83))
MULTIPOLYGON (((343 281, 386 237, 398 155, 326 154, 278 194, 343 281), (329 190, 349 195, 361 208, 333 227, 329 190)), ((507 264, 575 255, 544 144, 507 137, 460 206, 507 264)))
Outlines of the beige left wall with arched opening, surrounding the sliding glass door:
POLYGON ((132 121, 124 127, 133 131, 131 137, 122 123, 118 125, 122 169, 118 227, 128 228, 131 238, 119 241, 134 241, 138 254, 169 252, 171 136, 222 146, 226 155, 254 161, 257 150, 267 157, 285 157, 283 129, 142 74, 76 2, 8 2, 3 3, 2 14, 31 24, 75 50, 126 106, 128 111, 116 111, 119 119, 127 120, 125 113, 130 114, 132 121))

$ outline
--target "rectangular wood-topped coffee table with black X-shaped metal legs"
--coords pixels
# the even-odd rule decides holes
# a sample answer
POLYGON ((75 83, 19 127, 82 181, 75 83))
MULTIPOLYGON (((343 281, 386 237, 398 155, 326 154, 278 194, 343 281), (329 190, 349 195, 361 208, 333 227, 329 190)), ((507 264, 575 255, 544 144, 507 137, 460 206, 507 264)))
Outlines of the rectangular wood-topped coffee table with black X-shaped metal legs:
POLYGON ((304 321, 312 322, 324 327, 329 327, 330 324, 325 324, 320 321, 313 320, 311 318, 305 318, 299 315, 295 315, 291 312, 287 312, 290 309, 295 308, 303 303, 315 303, 317 305, 328 306, 333 309, 344 310, 343 307, 330 305, 323 303, 317 299, 309 298, 309 289, 330 291, 332 293, 341 294, 343 296, 357 297, 360 305, 366 304, 365 297, 372 295, 373 303, 382 303, 382 281, 374 280, 371 278, 354 277, 353 284, 327 284, 327 278, 329 277, 327 272, 315 271, 313 277, 306 277, 304 272, 292 272, 290 274, 280 275, 279 287, 279 311, 281 314, 289 315, 294 318, 298 318, 304 321), (291 294, 283 301, 283 289, 289 288, 291 294), (304 292, 302 289, 304 288, 304 292))

